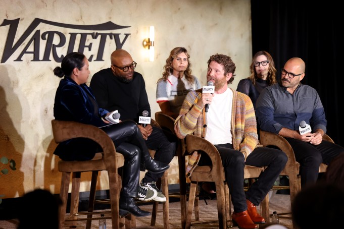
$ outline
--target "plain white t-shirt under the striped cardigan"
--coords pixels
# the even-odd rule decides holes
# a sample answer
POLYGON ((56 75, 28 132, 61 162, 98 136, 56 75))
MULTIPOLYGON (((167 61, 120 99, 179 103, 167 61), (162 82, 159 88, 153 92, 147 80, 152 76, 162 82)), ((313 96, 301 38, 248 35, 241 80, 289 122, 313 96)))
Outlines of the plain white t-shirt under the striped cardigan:
POLYGON ((213 145, 232 144, 230 131, 232 119, 233 92, 227 88, 222 94, 214 94, 207 113, 206 140, 213 145))

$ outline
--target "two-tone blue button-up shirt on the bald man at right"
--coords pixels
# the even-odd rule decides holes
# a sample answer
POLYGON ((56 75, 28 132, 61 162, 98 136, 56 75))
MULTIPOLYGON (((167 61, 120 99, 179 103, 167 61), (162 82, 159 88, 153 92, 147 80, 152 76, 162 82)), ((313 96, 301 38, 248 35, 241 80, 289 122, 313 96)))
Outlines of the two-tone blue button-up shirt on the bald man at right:
POLYGON ((299 130, 301 121, 312 130, 326 133, 327 121, 318 93, 301 83, 293 94, 278 83, 265 88, 256 103, 256 117, 261 130, 276 134, 283 127, 299 130))

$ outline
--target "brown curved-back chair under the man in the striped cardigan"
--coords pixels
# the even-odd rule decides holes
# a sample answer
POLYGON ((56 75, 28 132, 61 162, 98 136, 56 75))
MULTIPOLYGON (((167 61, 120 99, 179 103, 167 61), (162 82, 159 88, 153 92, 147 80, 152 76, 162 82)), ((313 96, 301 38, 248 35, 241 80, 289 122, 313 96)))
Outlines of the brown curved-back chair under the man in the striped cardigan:
MULTIPOLYGON (((192 153, 195 150, 201 150, 207 153, 212 161, 212 165, 198 165, 195 167, 191 174, 190 194, 187 206, 185 227, 191 227, 193 201, 195 198, 196 189, 198 187, 198 182, 215 182, 219 228, 231 227, 231 225, 229 225, 229 221, 231 219, 229 189, 228 185, 225 182, 224 170, 218 150, 209 141, 194 135, 186 136, 186 149, 188 153, 192 153)), ((244 178, 257 178, 263 170, 263 167, 245 166, 244 178)), ((268 195, 262 201, 263 217, 265 219, 269 218, 267 206, 268 195)))

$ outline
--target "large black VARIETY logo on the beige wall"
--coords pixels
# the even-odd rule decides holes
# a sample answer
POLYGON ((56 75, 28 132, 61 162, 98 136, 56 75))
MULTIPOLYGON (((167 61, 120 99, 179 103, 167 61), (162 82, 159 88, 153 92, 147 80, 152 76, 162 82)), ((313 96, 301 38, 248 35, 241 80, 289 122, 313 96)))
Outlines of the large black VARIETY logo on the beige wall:
MULTIPOLYGON (((30 40, 27 42, 25 47, 21 50, 20 54, 14 61, 22 61, 23 55, 30 54, 33 55, 32 61, 52 61, 51 53, 53 53, 54 61, 61 63, 62 59, 64 58, 63 54, 59 54, 59 49, 62 47, 68 46, 67 53, 73 52, 75 46, 78 44, 78 52, 84 52, 86 49, 91 51, 91 54, 88 58, 88 61, 104 61, 103 54, 104 54, 104 47, 108 39, 114 39, 116 44, 116 49, 122 48, 123 44, 127 40, 130 33, 124 33, 125 37, 121 41, 120 33, 100 33, 94 31, 104 31, 104 30, 118 30, 128 28, 130 26, 120 26, 116 25, 112 22, 106 22, 103 24, 98 25, 72 25, 72 24, 64 24, 58 22, 47 21, 39 18, 35 18, 30 26, 25 30, 25 32, 19 37, 18 41, 14 44, 15 36, 17 35, 17 29, 19 24, 19 18, 14 20, 7 20, 5 19, 3 24, 0 26, 10 26, 9 32, 7 35, 5 48, 3 57, 1 59, 1 63, 5 63, 13 54, 14 52, 21 47, 23 42, 33 33, 30 40), (60 32, 60 31, 45 31, 42 32, 40 29, 37 29, 37 26, 40 24, 48 24, 53 25, 61 28, 69 28, 69 29, 76 29, 76 30, 89 30, 92 32, 85 32, 85 33, 76 33, 70 32, 68 35, 60 32), (35 32, 34 32, 35 30, 35 32), (56 37, 59 37, 56 38, 56 37), (42 40, 46 40, 46 45, 44 48, 43 56, 40 56, 40 48, 42 40), (67 41, 68 40, 68 41, 67 41), (92 40, 97 40, 99 45, 97 47, 92 46, 92 40), (33 47, 33 50, 31 50, 33 47), (95 54, 96 53, 96 54, 95 54), (95 55, 95 56, 94 56, 95 55)), ((18 35, 17 35, 18 36, 18 35)), ((64 54, 67 54, 64 53, 64 54)))

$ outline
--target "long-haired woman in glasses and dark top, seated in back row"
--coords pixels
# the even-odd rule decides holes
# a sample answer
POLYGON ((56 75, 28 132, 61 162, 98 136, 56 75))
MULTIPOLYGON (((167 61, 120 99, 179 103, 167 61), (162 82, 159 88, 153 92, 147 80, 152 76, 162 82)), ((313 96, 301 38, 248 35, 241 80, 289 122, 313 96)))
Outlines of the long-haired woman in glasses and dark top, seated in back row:
POLYGON ((247 94, 256 107, 256 101, 264 88, 277 83, 275 64, 267 51, 257 52, 250 65, 251 76, 239 81, 237 91, 247 94))

